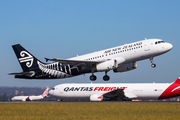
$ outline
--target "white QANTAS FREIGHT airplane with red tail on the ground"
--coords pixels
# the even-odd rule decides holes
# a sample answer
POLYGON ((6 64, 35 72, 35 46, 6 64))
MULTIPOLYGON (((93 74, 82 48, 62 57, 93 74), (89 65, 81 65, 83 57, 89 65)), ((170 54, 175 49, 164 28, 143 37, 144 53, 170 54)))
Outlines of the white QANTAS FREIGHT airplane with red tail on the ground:
POLYGON ((62 100, 133 101, 180 96, 180 77, 173 83, 60 84, 49 95, 62 100))

